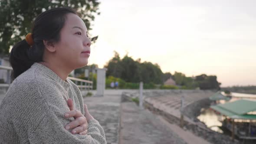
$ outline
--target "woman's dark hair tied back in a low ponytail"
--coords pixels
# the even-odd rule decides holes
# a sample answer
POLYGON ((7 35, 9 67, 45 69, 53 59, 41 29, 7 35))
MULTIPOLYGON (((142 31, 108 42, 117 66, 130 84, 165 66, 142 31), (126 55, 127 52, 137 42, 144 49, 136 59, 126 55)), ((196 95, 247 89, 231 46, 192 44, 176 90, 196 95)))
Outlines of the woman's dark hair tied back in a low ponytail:
POLYGON ((59 7, 46 10, 36 17, 31 31, 33 46, 24 39, 16 43, 10 52, 10 64, 13 67, 12 80, 29 69, 34 62, 43 61, 45 49, 43 40, 59 42, 60 30, 65 24, 67 13, 77 14, 69 7, 59 7))

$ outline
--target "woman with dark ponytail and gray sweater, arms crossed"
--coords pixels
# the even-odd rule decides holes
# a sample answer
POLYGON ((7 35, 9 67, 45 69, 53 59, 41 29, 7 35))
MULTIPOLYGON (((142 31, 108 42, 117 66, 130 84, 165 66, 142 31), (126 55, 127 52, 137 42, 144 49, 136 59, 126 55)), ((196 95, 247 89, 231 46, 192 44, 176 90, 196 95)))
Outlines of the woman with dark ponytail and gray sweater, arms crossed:
POLYGON ((106 144, 72 70, 87 65, 85 23, 67 7, 41 13, 10 53, 13 82, 0 105, 0 144, 106 144))

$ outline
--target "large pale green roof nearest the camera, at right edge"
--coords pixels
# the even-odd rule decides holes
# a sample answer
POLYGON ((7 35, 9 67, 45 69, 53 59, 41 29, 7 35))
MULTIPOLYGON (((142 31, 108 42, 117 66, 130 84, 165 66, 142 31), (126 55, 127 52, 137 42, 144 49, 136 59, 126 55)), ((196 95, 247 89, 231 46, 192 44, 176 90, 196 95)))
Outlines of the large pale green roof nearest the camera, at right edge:
POLYGON ((256 101, 241 99, 220 105, 212 105, 210 108, 233 119, 256 119, 256 115, 248 115, 250 111, 256 111, 256 101))

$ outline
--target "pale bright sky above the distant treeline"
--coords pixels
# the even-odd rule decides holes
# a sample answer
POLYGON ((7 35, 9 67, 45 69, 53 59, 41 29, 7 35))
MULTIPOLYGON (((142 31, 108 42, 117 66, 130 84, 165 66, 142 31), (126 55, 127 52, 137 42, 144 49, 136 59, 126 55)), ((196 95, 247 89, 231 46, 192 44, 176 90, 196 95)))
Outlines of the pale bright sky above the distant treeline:
POLYGON ((224 86, 256 85, 255 0, 102 0, 89 64, 117 51, 163 72, 216 75, 224 86))

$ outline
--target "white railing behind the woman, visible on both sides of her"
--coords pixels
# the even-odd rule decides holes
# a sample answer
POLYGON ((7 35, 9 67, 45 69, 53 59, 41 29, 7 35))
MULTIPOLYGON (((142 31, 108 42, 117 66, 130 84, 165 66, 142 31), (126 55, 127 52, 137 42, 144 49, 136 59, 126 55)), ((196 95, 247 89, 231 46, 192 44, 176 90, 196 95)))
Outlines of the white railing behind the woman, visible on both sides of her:
MULTIPOLYGON (((12 67, 9 66, 2 66, 0 65, 0 69, 5 69, 7 70, 7 83, 6 84, 0 84, 0 88, 8 88, 10 86, 11 80, 10 80, 10 75, 11 71, 13 70, 12 67)), ((80 90, 92 90, 92 81, 84 80, 84 79, 78 79, 74 77, 68 77, 70 80, 74 80, 75 84, 77 85, 78 82, 80 82, 80 85, 77 85, 80 90)))

